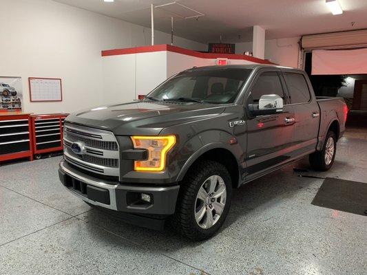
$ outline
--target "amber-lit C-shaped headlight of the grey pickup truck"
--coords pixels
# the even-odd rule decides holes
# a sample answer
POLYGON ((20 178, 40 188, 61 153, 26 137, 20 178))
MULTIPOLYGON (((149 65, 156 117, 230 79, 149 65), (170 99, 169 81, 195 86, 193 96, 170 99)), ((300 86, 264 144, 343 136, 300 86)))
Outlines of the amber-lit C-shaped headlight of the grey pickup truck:
POLYGON ((148 159, 136 160, 136 171, 162 171, 166 168, 167 152, 176 143, 174 135, 133 136, 132 142, 136 149, 147 149, 148 159))

